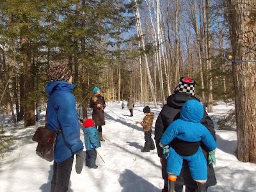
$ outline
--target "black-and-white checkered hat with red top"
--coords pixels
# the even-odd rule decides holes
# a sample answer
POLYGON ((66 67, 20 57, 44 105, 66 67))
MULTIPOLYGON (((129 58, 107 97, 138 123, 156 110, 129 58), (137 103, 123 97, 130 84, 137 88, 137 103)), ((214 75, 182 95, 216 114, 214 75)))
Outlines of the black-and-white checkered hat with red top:
POLYGON ((196 82, 189 77, 181 77, 178 86, 175 88, 175 93, 189 93, 195 95, 196 82))

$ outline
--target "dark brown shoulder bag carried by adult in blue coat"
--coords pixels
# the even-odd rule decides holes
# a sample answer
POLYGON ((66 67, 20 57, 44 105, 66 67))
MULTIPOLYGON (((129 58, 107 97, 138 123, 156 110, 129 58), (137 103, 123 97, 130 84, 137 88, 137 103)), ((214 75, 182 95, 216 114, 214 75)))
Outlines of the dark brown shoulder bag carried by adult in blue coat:
POLYGON ((38 143, 36 147, 36 154, 39 157, 42 157, 50 162, 54 159, 54 148, 56 145, 57 136, 60 134, 60 132, 61 129, 59 129, 57 132, 52 131, 51 129, 47 128, 47 125, 45 125, 45 127, 38 127, 36 129, 32 140, 38 143))

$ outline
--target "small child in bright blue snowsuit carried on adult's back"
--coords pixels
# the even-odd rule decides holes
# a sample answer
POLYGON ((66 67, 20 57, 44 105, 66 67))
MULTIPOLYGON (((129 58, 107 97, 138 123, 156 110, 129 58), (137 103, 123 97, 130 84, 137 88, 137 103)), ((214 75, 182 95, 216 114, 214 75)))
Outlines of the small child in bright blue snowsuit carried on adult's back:
POLYGON ((202 141, 209 150, 215 150, 217 144, 211 132, 200 124, 203 115, 202 104, 195 99, 188 100, 180 110, 180 119, 172 122, 161 137, 163 156, 167 158, 168 191, 173 191, 184 159, 188 161, 191 176, 196 181, 199 191, 205 191, 207 164, 200 142, 202 141), (175 140, 181 142, 169 148, 169 143, 175 140))

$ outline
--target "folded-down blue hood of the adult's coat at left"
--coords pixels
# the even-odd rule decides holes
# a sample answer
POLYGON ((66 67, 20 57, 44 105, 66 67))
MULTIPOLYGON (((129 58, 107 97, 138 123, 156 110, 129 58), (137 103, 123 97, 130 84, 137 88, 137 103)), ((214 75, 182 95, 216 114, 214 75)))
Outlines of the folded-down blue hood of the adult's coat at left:
POLYGON ((67 81, 50 81, 45 86, 45 92, 48 95, 51 95, 51 93, 54 92, 54 90, 72 92, 74 87, 75 87, 74 84, 68 83, 67 81))

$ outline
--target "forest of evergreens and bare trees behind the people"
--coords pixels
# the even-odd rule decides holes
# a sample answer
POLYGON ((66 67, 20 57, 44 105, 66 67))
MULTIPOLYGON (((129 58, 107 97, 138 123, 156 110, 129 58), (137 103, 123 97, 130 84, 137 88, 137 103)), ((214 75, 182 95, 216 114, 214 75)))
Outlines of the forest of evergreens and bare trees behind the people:
POLYGON ((254 0, 1 0, 0 114, 35 125, 56 64, 72 70, 81 118, 95 86, 107 102, 131 93, 157 108, 188 76, 209 112, 236 102, 239 160, 256 163, 255 10, 254 0))

